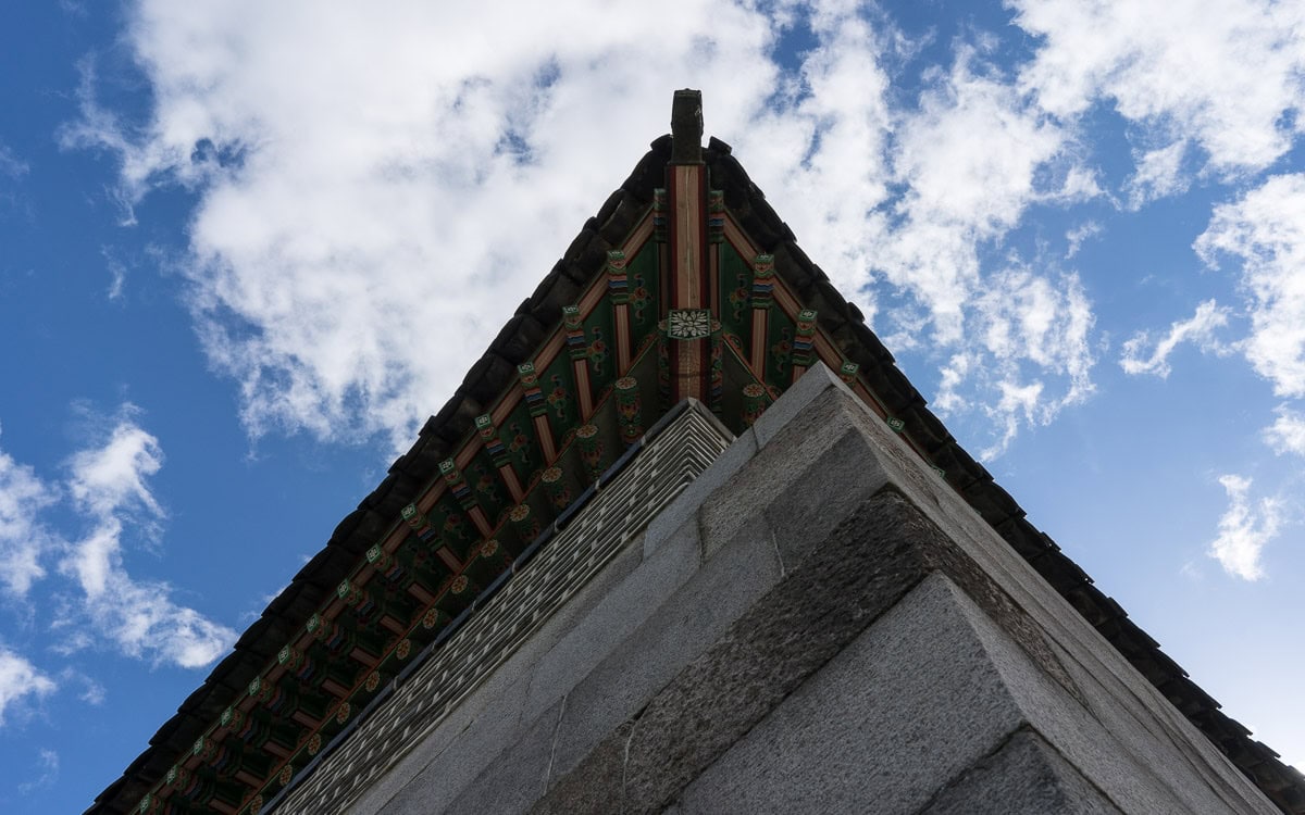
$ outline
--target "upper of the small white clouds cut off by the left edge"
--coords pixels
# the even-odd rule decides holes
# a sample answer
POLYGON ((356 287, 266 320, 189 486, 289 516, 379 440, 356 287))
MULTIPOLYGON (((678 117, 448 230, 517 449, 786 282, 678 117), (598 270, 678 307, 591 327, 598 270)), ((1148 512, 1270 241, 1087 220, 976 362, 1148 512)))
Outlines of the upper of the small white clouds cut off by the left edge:
POLYGON ((14 597, 46 574, 40 561, 56 541, 37 515, 55 499, 31 467, 0 451, 0 584, 14 597))

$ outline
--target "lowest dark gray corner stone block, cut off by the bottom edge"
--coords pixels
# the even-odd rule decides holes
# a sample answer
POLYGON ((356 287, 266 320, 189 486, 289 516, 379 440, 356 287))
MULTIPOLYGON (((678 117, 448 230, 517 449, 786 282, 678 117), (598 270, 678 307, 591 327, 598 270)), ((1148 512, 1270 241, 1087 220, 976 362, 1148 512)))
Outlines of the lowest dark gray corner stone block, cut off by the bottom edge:
POLYGON ((921 810, 921 815, 1121 815, 1109 798, 1034 730, 1017 730, 921 810))

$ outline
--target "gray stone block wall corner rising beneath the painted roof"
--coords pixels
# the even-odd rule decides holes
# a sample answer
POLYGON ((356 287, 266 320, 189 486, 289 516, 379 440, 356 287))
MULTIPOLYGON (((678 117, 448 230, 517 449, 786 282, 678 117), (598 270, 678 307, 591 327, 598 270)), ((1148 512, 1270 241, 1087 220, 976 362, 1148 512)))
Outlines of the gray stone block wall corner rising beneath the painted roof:
POLYGON ((351 812, 1275 812, 822 365, 351 812))

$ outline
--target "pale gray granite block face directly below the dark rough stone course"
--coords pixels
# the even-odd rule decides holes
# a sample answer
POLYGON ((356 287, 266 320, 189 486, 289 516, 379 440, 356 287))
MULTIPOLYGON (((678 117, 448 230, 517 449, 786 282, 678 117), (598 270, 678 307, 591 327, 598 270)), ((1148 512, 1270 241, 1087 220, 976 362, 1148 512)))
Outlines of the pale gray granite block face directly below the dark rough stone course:
MULTIPOLYGON (((684 815, 917 811, 1023 721, 964 602, 919 584, 693 780, 684 815)), ((625 811, 646 811, 639 792, 625 811)))

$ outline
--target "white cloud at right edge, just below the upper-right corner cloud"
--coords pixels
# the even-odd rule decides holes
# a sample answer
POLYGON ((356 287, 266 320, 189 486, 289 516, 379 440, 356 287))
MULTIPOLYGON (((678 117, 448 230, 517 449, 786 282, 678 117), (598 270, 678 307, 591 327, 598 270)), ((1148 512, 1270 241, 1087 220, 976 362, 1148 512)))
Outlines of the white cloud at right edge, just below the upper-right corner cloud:
POLYGON ((1305 395, 1305 173, 1215 207, 1194 248, 1211 267, 1220 256, 1240 263, 1251 322, 1241 348, 1274 393, 1305 395))

